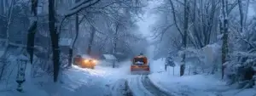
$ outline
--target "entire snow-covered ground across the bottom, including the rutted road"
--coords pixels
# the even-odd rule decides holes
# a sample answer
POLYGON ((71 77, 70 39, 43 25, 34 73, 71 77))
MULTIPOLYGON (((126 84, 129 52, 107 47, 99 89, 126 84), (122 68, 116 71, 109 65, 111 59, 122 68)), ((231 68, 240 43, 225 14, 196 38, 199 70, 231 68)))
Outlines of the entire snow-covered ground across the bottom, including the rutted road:
MULTIPOLYGON (((11 56, 10 59, 15 59, 11 56)), ((97 65, 95 70, 84 69, 73 65, 62 71, 61 82, 54 83, 52 78, 41 76, 30 77, 31 65, 27 66, 24 93, 18 93, 15 79, 9 79, 0 85, 0 96, 122 96, 132 93, 134 96, 154 96, 158 94, 174 96, 253 96, 252 89, 235 89, 225 85, 218 75, 179 75, 179 66, 165 71, 165 59, 152 61, 149 76, 130 75, 130 61, 121 62, 118 68, 97 65), (174 72, 174 74, 173 74, 174 72), (148 79, 149 78, 149 79, 148 79), (152 85, 153 84, 153 85, 152 85), (156 88, 154 88, 154 86, 156 88)), ((15 61, 12 63, 15 64, 15 61)), ((10 67, 10 68, 15 68, 10 67)), ((10 78, 15 78, 15 73, 10 78)))

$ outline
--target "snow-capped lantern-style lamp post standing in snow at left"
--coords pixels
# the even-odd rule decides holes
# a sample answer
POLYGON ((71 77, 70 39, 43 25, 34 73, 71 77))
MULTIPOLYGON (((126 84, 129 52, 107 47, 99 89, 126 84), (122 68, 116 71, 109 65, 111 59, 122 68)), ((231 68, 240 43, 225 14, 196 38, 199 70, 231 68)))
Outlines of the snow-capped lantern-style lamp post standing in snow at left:
POLYGON ((16 77, 16 82, 18 83, 17 91, 22 92, 21 84, 25 82, 25 71, 26 71, 26 63, 29 59, 23 55, 20 54, 17 58, 17 65, 18 65, 18 72, 16 77))

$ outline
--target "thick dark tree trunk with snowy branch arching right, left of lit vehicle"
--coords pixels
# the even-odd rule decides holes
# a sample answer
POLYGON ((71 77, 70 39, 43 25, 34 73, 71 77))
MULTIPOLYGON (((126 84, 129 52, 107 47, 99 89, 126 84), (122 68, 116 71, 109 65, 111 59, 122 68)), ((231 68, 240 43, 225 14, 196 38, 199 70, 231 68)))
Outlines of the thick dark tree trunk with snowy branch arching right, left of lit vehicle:
POLYGON ((49 0, 49 34, 53 51, 54 82, 57 82, 60 71, 60 50, 59 34, 55 27, 55 0, 49 0))

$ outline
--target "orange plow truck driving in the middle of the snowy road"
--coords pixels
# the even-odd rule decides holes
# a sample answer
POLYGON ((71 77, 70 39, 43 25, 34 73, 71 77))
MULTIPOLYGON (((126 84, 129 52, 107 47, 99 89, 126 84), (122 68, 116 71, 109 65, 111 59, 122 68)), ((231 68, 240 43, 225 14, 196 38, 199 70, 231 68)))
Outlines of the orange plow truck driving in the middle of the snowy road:
POLYGON ((131 59, 131 61, 132 61, 132 65, 131 65, 132 75, 148 75, 150 73, 147 57, 141 54, 131 59))

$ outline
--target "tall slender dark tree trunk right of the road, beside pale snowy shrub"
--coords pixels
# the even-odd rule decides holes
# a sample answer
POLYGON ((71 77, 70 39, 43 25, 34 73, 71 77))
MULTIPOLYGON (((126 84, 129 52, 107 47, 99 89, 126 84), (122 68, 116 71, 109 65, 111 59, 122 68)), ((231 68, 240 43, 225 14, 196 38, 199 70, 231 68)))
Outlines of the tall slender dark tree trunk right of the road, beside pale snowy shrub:
MULTIPOLYGON (((183 48, 187 48, 187 36, 189 28, 189 3, 187 0, 184 0, 184 36, 183 36, 183 48)), ((185 59, 186 54, 183 53, 182 65, 180 65, 180 76, 184 75, 185 71, 185 59)))

